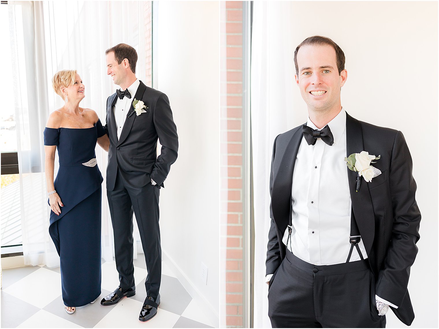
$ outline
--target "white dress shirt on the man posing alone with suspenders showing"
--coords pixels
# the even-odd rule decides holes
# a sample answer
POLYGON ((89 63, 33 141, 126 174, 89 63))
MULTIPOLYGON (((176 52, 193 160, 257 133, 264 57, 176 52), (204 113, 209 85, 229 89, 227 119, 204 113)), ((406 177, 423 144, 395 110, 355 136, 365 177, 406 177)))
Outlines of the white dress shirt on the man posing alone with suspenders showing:
MULTIPOLYGON (((310 119, 306 125, 320 130, 310 119)), ((302 137, 291 188, 291 239, 288 239, 288 228, 282 239, 296 257, 314 265, 345 263, 351 248, 349 237, 352 202, 348 169, 344 160, 345 110, 341 110, 328 126, 334 136, 334 144, 331 146, 320 138, 314 145, 308 145, 305 137, 302 137)), ((363 259, 366 259, 367 253, 362 240, 358 246, 363 259)), ((354 248, 349 261, 360 259, 354 248)), ((266 280, 269 281, 271 276, 267 275, 266 280)))

